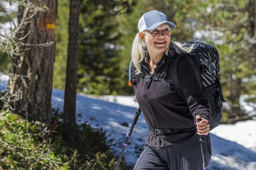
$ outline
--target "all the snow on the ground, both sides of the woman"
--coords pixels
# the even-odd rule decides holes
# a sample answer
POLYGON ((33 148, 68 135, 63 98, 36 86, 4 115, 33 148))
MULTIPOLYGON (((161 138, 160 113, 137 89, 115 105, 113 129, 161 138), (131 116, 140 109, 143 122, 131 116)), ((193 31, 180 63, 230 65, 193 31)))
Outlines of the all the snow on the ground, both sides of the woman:
MULTIPOLYGON (((0 74, 1 82, 8 77, 0 74)), ((0 85, 4 90, 5 85, 0 85)), ((52 108, 63 111, 64 91, 53 89, 52 108)), ((138 104, 134 96, 101 96, 99 98, 77 94, 77 123, 90 123, 94 128, 106 130, 108 144, 119 156, 126 133, 131 127, 138 104), (123 126, 127 123, 127 126, 123 126), (121 125, 123 124, 123 125, 121 125)), ((244 107, 246 109, 246 107, 244 107)), ((134 165, 145 144, 148 130, 141 114, 134 127, 123 159, 134 165)), ((256 121, 247 120, 235 125, 219 125, 211 131, 212 160, 209 170, 256 170, 256 121)))

